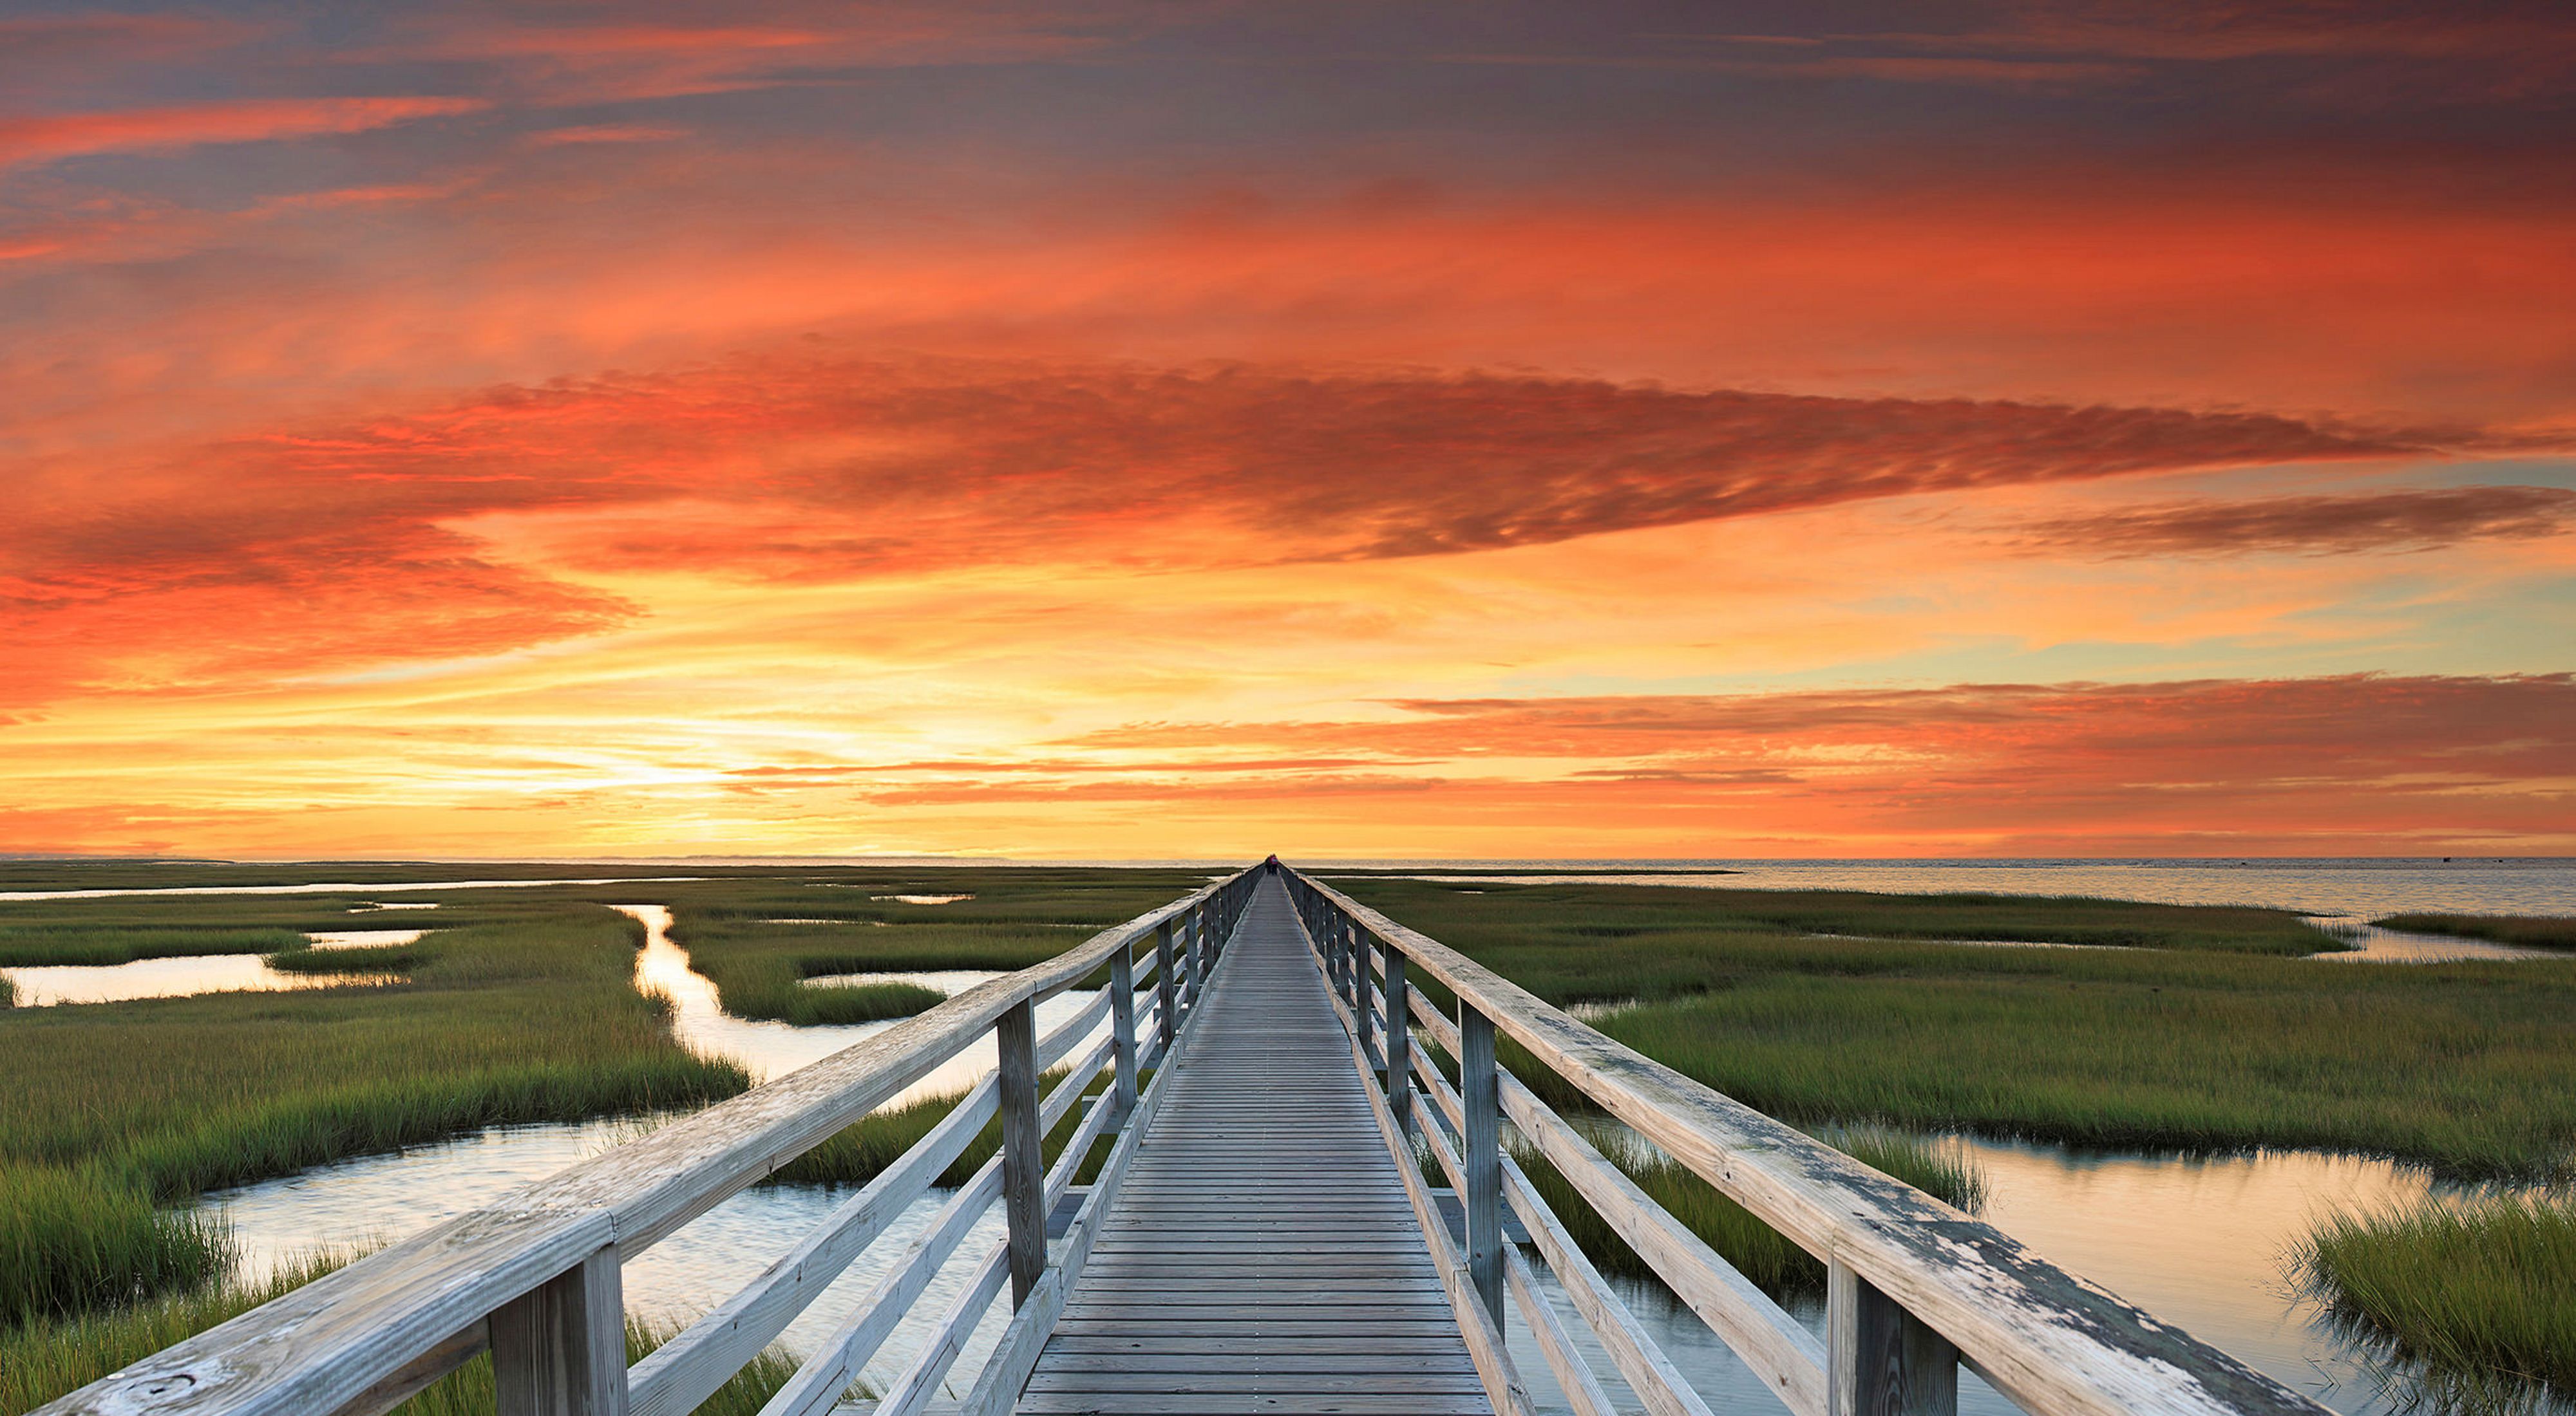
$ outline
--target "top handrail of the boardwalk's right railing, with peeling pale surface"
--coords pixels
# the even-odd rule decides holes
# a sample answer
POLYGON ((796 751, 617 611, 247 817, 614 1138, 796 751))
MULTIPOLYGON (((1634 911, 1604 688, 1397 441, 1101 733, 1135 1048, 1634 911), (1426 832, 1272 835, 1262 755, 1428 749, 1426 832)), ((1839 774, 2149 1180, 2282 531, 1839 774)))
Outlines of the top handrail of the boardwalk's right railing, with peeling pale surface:
MULTIPOLYGON (((1283 865, 1497 1032, 1785 1238, 1947 1339, 2035 1416, 2318 1416, 2244 1362, 1999 1228, 1602 1035, 1458 950, 1283 865)), ((1345 963, 1350 968, 1350 963, 1345 963)), ((1365 965, 1360 978, 1365 978, 1365 965)), ((1432 1086, 1443 1099, 1445 1081, 1432 1086)), ((1448 1102, 1443 1102, 1448 1104, 1448 1102)), ((1852 1395, 1834 1393, 1829 1416, 1852 1395)))

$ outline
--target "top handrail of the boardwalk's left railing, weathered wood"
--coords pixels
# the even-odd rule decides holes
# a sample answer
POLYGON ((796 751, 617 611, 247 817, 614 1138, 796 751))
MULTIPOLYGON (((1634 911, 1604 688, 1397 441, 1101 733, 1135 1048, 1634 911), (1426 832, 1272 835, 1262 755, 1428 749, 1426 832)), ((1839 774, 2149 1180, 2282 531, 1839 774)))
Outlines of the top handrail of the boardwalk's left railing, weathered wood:
MULTIPOLYGON (((513 1300, 670 1236, 930 1076, 1005 1014, 1074 986, 1257 870, 1110 924, 829 1058, 335 1269, 39 1416, 309 1416, 389 1403, 477 1352, 479 1326, 513 1300)), ((623 1365, 616 1380, 623 1411, 623 1365)))

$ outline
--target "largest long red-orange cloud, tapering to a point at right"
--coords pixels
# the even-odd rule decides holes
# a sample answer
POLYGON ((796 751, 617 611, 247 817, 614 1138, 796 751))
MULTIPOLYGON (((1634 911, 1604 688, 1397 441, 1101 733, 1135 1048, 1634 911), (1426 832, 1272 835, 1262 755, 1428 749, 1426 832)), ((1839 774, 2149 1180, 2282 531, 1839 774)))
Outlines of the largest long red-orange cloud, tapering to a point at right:
POLYGON ((801 353, 201 448, 106 499, 26 484, 0 494, 21 528, 0 572, 21 644, 46 646, 28 659, 52 664, 36 682, 118 682, 131 675, 116 664, 134 659, 157 664, 137 682, 193 682, 224 667, 492 651, 623 613, 459 536, 495 515, 523 517, 523 554, 603 572, 1224 566, 2375 458, 2434 438, 1579 378, 801 353))

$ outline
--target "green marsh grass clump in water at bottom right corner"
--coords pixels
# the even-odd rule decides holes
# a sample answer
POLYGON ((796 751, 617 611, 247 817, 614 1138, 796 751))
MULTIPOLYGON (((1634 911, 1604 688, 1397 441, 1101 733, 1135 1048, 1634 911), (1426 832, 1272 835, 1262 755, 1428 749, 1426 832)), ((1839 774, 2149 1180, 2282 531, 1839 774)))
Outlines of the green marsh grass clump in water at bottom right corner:
POLYGON ((2427 1197, 2329 1215, 2295 1264, 2352 1336, 2432 1390, 2468 1398, 2452 1406, 2509 1403, 2519 1383, 2576 1401, 2576 1202, 2566 1197, 2427 1197))

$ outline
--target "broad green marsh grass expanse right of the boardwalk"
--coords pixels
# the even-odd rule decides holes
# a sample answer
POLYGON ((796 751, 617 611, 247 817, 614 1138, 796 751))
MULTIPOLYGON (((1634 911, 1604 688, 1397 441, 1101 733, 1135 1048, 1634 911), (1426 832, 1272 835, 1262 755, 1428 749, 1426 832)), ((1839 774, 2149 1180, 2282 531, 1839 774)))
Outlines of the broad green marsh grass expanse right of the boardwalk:
MULTIPOLYGON (((2555 1177, 2576 1151, 2576 971, 2555 960, 2280 958, 2272 911, 2143 906, 2208 947, 2038 950, 1829 940, 1767 891, 1352 880, 1350 893, 1757 1110, 2079 1146, 2290 1146, 2455 1177, 2555 1177), (1754 919, 1762 914, 1765 919, 1754 919), (2241 932, 2239 932, 2241 929, 2241 932)), ((1901 929, 1940 896, 1883 896, 1901 929)), ((2099 901, 2014 901, 2027 932, 2099 901)), ((1989 929, 1960 904, 1958 929, 1989 929)), ((2123 906, 2125 909, 2125 906, 2123 906)), ((1448 1001, 1440 989, 1425 989, 1448 1001)), ((1520 1071, 1525 1058, 1504 1048, 1520 1071)), ((1569 1089, 1522 1071, 1543 1097, 1569 1089)))

